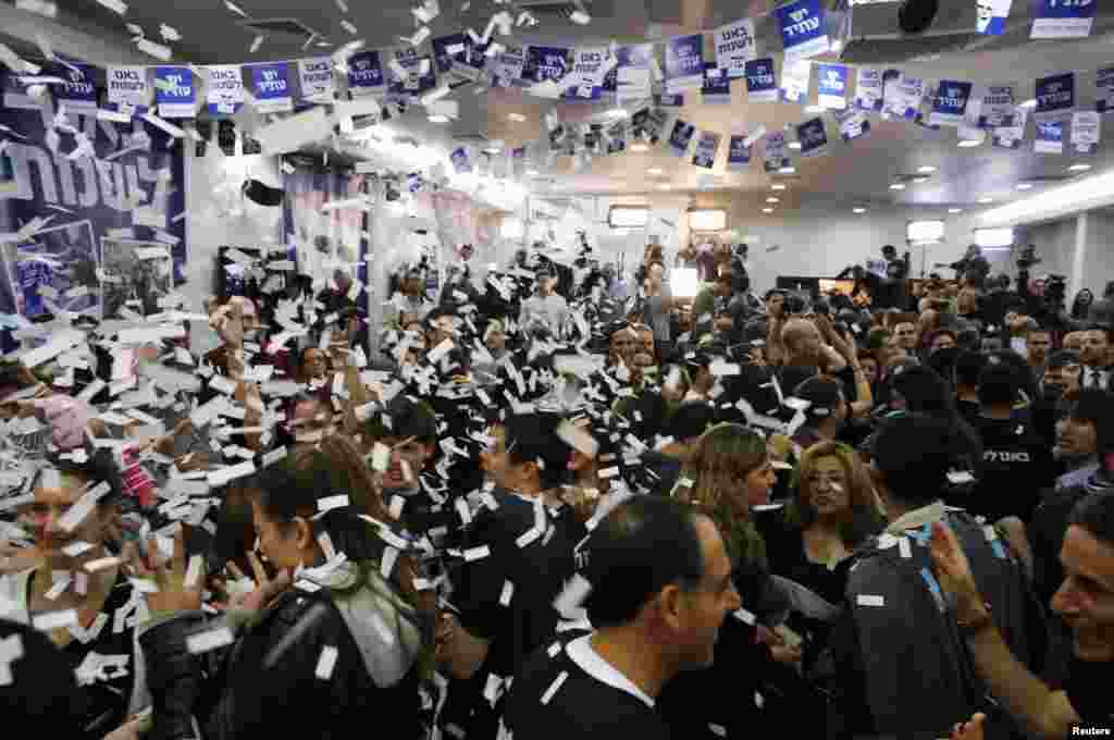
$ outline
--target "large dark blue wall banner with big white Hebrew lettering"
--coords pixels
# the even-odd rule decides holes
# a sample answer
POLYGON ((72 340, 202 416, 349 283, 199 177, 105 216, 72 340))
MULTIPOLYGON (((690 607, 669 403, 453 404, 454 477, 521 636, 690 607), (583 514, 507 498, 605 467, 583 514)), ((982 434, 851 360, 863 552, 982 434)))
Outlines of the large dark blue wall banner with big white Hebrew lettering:
MULTIPOLYGON (((130 72, 121 79, 131 79, 130 72)), ((117 99, 128 105, 128 99, 138 98, 119 95, 117 99)), ((192 110, 193 104, 189 107, 192 110)), ((172 281, 183 283, 182 140, 140 119, 116 124, 70 111, 70 126, 91 146, 92 156, 81 156, 74 133, 55 130, 56 114, 49 98, 43 104, 0 110, 0 125, 25 137, 7 142, 3 159, 10 173, 7 186, 0 188, 0 210, 8 214, 12 231, 28 230, 21 234, 26 237, 16 242, 16 251, 4 255, 16 261, 14 265, 6 264, 6 271, 19 270, 21 255, 45 254, 48 262, 59 263, 57 267, 41 263, 50 269, 46 292, 57 292, 60 301, 56 304, 65 310, 94 311, 100 318, 100 242, 105 237, 133 238, 164 245, 173 259, 172 281), (51 148, 53 136, 48 134, 58 135, 57 150, 51 148)), ((13 313, 18 303, 16 276, 6 276, 0 281, 0 313, 13 313)), ((48 273, 27 267, 20 278, 38 284, 48 273)), ((26 305, 26 293, 22 301, 26 305)), ((31 310, 38 310, 33 302, 31 310)))

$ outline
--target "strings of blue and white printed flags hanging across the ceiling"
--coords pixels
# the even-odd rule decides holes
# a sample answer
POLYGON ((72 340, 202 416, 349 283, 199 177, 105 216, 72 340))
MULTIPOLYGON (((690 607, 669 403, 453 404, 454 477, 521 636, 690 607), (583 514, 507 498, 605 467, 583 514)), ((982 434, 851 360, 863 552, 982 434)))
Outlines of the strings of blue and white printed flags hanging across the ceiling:
MULTIPOLYGON (((106 4, 102 1, 102 4, 106 4)), ((336 0, 343 13, 344 0, 336 0)), ((127 7, 114 3, 124 16, 127 7)), ((247 17, 231 1, 229 12, 247 17)), ((467 10, 467 6, 461 10, 467 10)), ((51 67, 21 59, 0 45, 0 62, 6 76, 4 104, 41 99, 49 90, 66 110, 97 115, 127 123, 144 117, 164 130, 180 134, 168 120, 194 118, 206 106, 216 118, 235 116, 245 105, 267 117, 257 138, 271 153, 290 150, 297 139, 290 134, 300 126, 291 119, 274 120, 278 114, 296 113, 303 120, 320 124, 326 119, 314 107, 331 105, 362 116, 382 117, 384 110, 424 106, 429 113, 456 115, 456 101, 448 99, 463 86, 477 94, 489 87, 519 88, 555 101, 634 107, 629 119, 603 124, 565 125, 555 113, 546 117, 548 142, 531 143, 506 153, 506 165, 522 176, 527 155, 568 154, 577 167, 597 155, 627 150, 636 139, 656 144, 667 134, 667 146, 677 156, 687 156, 695 143, 692 164, 711 169, 721 145, 726 140, 729 172, 750 166, 752 150, 765 142, 766 172, 792 166, 785 132, 765 132, 761 127, 732 132, 696 130, 680 115, 666 132, 668 108, 684 106, 698 90, 704 104, 722 105, 732 100, 732 82, 744 80, 747 103, 789 103, 805 105, 811 99, 812 72, 817 72, 817 100, 830 113, 839 136, 852 142, 869 135, 871 118, 902 119, 928 128, 955 127, 962 140, 981 143, 988 136, 994 146, 1018 148, 1026 140, 1028 118, 1035 121, 1034 148, 1044 154, 1094 154, 1101 136, 1101 117, 1114 110, 1114 66, 1058 72, 1034 81, 1034 95, 1027 104, 1017 81, 928 80, 900 69, 850 67, 817 61, 813 58, 832 50, 830 18, 825 19, 822 0, 794 0, 774 9, 780 31, 782 58, 775 49, 761 49, 755 33, 755 18, 743 18, 706 33, 680 36, 658 42, 619 46, 560 47, 515 45, 517 28, 537 23, 528 10, 512 12, 511 3, 499 1, 483 33, 473 28, 434 36, 429 23, 440 14, 438 0, 424 0, 412 9, 418 30, 401 37, 401 45, 365 49, 352 41, 328 56, 244 62, 238 65, 175 65, 168 43, 180 35, 165 23, 160 35, 167 43, 145 37, 138 26, 128 23, 137 47, 165 62, 156 66, 123 65, 106 69, 104 93, 92 80, 92 70, 70 64, 53 55, 45 39, 40 49, 51 67), (517 17, 516 17, 517 16, 517 17), (711 37, 711 55, 705 50, 711 37), (664 62, 664 64, 663 64, 664 62), (780 67, 780 76, 778 75, 780 67), (849 99, 852 77, 854 94, 849 99), (1083 81, 1094 81, 1094 106, 1081 107, 1083 81), (352 101, 362 105, 352 106, 352 101), (381 104, 380 107, 377 104, 381 104), (346 106, 346 107, 345 107, 346 106), (378 110, 377 110, 378 108, 378 110), (322 120, 319 121, 317 119, 322 120), (270 133, 272 136, 267 136, 270 133), (270 143, 270 146, 268 146, 270 143)), ((106 4, 106 7, 109 7, 106 4)), ((980 0, 977 31, 1000 35, 1009 14, 1010 0, 980 0)), ((571 20, 587 25, 592 19, 583 7, 571 20)), ((1083 38, 1094 26, 1094 0, 1040 0, 1030 29, 1034 39, 1083 38)), ((345 30, 358 31, 345 19, 345 30)), ((310 37, 304 48, 313 43, 310 37)), ((320 39, 317 39, 320 41, 320 39)), ((252 43, 252 52, 263 45, 263 37, 252 43)), ((390 115, 390 114, 385 114, 390 115)), ((351 116, 340 116, 341 130, 351 130, 351 116)), ((321 126, 302 127, 315 130, 321 126)), ((814 157, 828 150, 829 137, 824 114, 815 114, 795 127, 800 156, 814 157)), ((452 153, 458 173, 470 172, 475 164, 489 166, 491 156, 478 162, 470 147, 452 153)))

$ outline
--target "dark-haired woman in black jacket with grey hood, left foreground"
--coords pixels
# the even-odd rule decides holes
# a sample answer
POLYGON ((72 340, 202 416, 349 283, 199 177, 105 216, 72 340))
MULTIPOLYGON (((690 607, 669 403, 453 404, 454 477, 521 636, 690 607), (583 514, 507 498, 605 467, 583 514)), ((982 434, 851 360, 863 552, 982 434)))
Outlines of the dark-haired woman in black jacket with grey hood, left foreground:
POLYGON ((270 571, 250 554, 257 588, 216 621, 196 611, 180 543, 175 573, 156 571, 157 619, 139 634, 155 738, 193 738, 195 724, 207 740, 344 737, 384 712, 401 737, 418 736, 432 624, 403 595, 405 541, 352 506, 351 483, 312 448, 258 476, 252 510, 270 571))

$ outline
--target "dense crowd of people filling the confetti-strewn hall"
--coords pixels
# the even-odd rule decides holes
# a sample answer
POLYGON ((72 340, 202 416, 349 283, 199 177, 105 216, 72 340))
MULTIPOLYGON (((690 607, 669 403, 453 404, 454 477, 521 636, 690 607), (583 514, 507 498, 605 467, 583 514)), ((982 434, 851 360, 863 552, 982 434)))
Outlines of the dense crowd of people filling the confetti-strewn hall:
POLYGON ((49 317, 0 366, 0 707, 113 740, 1110 728, 1111 296, 1045 310, 975 253, 909 292, 883 255, 848 295, 585 246, 403 271, 382 327, 341 271, 49 317))

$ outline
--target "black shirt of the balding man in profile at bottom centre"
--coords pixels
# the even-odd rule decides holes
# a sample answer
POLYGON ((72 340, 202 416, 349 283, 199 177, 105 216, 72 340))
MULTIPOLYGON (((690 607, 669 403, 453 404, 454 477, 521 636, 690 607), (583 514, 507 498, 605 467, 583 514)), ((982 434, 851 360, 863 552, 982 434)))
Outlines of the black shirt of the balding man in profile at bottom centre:
MULTIPOLYGON (((534 653, 515 676, 502 717, 507 730, 530 740, 670 740, 668 726, 654 707, 570 658, 569 645, 589 637, 566 635, 571 637, 534 653)), ((596 662, 603 660, 596 656, 596 662)))

